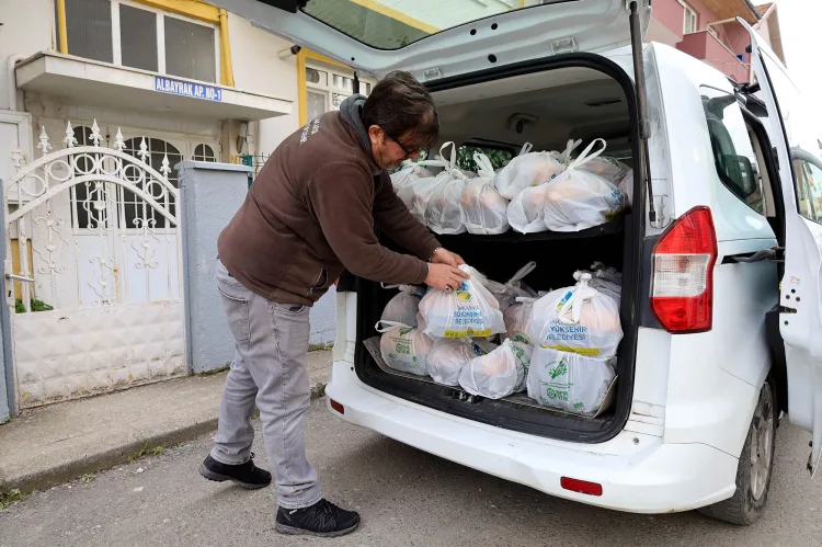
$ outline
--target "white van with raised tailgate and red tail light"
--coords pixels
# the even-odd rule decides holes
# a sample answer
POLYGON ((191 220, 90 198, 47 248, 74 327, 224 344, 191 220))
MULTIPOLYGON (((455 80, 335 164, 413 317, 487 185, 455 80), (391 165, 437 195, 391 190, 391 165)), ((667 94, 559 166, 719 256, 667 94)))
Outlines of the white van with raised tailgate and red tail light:
MULTIPOLYGON (((356 278, 341 281, 336 296, 326 388, 334 414, 621 511, 700 509, 753 522, 781 412, 812 432, 815 471, 822 159, 797 89, 753 31, 758 83, 740 86, 671 47, 641 45, 650 0, 545 1, 476 21, 443 1, 456 13, 452 27, 401 39, 380 31, 384 20, 346 19, 344 7, 361 2, 212 1, 359 75, 411 71, 437 102, 443 141, 561 150, 570 138, 602 137, 606 153, 633 168, 632 213, 606 225, 441 238, 491 278, 536 261, 527 282, 537 289, 572 285, 573 271, 593 261, 623 272, 625 338, 609 410, 583 418, 386 373, 364 342, 392 294, 356 278)), ((438 9, 368 2, 396 13, 389 3, 438 9)))

